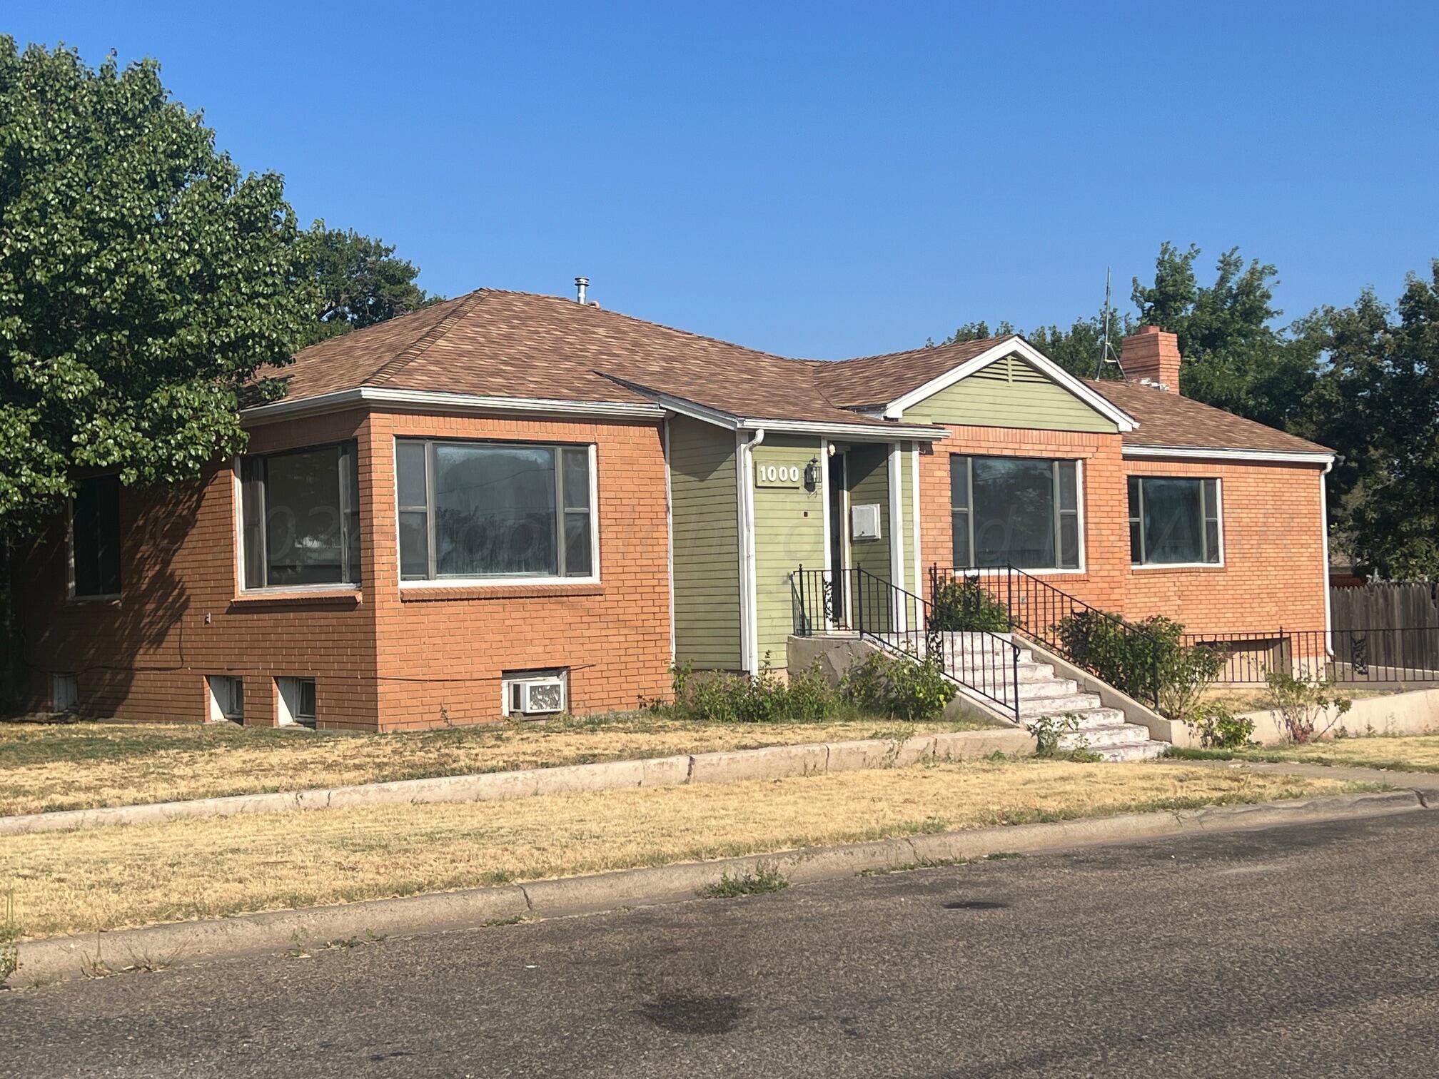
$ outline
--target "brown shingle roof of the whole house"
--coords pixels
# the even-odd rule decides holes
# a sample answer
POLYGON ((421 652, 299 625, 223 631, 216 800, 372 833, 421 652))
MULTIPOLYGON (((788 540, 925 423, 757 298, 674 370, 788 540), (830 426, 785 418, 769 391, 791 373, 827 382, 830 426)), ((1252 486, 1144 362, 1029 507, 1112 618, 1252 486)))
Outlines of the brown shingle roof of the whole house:
MULTIPOLYGON (((305 348, 279 377, 291 401, 361 386, 620 403, 648 401, 646 390, 744 419, 882 427, 852 410, 888 404, 1006 340, 1019 338, 789 360, 560 296, 478 289, 305 348)), ((1324 450, 1161 390, 1089 386, 1138 420, 1127 445, 1324 450)))

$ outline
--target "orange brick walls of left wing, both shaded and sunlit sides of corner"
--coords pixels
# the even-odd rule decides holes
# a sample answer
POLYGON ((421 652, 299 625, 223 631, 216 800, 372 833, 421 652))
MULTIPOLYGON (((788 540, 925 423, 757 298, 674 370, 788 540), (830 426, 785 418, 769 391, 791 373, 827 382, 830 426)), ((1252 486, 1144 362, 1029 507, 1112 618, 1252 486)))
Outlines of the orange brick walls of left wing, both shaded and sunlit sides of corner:
POLYGON ((164 496, 121 492, 121 597, 66 600, 63 522, 22 563, 29 706, 75 673, 86 715, 200 721, 204 675, 245 678, 245 719, 273 724, 275 678, 312 676, 325 728, 394 729, 499 716, 499 672, 571 668, 571 709, 630 708, 668 688, 665 465, 643 423, 364 414, 256 427, 250 450, 355 439, 361 580, 338 596, 240 596, 226 462, 164 496), (396 433, 597 445, 600 584, 401 596, 396 433))

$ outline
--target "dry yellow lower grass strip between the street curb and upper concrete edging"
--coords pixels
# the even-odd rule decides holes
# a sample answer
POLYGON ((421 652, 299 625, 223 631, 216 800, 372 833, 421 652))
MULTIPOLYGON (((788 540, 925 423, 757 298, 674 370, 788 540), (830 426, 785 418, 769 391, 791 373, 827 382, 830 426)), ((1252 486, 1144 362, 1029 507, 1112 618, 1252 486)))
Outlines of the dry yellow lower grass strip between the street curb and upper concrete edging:
POLYGON ((990 824, 1354 790, 1153 764, 938 764, 521 801, 376 806, 0 837, 27 937, 214 918, 990 824))

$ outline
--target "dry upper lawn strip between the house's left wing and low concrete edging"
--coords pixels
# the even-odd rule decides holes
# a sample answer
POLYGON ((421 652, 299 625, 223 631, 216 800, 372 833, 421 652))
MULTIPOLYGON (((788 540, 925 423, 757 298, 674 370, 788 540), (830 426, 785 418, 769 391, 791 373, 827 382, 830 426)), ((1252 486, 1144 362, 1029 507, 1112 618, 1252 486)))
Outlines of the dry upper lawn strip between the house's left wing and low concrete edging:
POLYGON ((0 722, 0 816, 973 727, 979 724, 705 724, 645 714, 384 735, 233 724, 0 722))

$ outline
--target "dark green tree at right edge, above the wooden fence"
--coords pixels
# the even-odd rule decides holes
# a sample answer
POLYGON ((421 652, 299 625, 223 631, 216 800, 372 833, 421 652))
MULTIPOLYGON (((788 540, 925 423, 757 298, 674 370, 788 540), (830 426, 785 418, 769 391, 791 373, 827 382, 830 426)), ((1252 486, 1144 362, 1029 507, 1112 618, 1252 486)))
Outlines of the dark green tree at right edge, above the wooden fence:
POLYGON ((1366 291, 1311 315, 1305 332, 1328 358, 1305 433, 1340 452, 1341 544, 1384 577, 1439 578, 1439 260, 1394 308, 1366 291))

